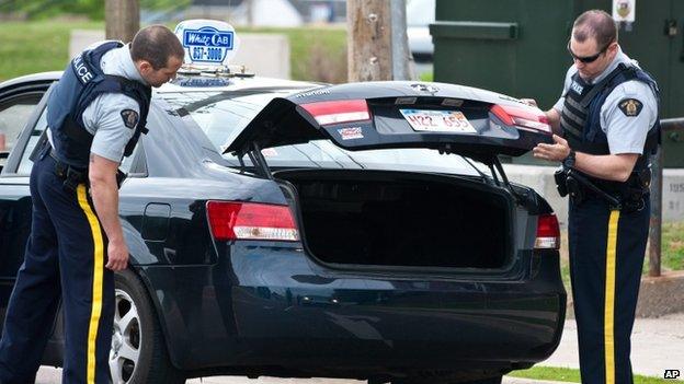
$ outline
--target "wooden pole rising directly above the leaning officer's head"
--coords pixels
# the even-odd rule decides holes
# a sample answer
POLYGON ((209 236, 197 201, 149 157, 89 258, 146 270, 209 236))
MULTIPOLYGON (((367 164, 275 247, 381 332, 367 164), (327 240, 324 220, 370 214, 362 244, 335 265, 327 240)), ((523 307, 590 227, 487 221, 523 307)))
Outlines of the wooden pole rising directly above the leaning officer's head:
POLYGON ((140 28, 140 4, 138 0, 105 0, 104 19, 106 38, 128 43, 140 28))

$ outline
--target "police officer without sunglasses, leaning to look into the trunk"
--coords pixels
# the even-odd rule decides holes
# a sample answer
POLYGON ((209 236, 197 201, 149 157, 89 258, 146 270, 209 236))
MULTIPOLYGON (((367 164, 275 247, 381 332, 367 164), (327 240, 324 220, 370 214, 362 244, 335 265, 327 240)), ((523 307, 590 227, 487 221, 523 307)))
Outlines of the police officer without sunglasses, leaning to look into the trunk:
POLYGON ((141 132, 151 86, 173 79, 184 51, 162 25, 130 45, 77 56, 47 103, 48 141, 34 159, 31 236, 0 341, 0 381, 33 383, 61 299, 64 383, 109 383, 114 278, 128 248, 117 170, 141 132))

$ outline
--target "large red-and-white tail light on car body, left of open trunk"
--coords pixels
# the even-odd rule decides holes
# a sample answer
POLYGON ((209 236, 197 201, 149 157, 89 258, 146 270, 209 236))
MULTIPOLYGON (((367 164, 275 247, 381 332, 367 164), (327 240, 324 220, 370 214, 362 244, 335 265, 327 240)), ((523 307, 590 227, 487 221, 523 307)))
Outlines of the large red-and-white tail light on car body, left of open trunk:
POLYGON ((288 206, 208 201, 207 216, 215 240, 299 240, 288 206))

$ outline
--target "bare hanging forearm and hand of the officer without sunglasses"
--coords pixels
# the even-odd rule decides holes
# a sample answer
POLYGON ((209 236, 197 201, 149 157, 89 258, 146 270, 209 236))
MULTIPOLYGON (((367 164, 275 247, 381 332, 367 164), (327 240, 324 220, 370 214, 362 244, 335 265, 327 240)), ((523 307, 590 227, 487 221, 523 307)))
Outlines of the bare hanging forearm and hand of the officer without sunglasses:
POLYGON ((98 218, 109 240, 106 267, 113 270, 126 268, 128 261, 128 248, 124 241, 121 221, 118 220, 117 170, 117 162, 94 153, 90 154, 88 171, 90 193, 98 218))

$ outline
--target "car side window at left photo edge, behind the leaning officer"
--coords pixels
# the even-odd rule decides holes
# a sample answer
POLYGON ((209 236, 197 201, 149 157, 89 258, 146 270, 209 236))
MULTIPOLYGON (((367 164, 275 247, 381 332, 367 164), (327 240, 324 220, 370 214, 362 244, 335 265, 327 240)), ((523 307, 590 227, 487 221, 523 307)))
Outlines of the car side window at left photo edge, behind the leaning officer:
POLYGON ((39 94, 21 95, 0 102, 0 165, 4 166, 19 135, 41 101, 39 94))

